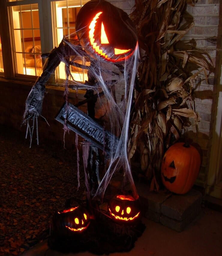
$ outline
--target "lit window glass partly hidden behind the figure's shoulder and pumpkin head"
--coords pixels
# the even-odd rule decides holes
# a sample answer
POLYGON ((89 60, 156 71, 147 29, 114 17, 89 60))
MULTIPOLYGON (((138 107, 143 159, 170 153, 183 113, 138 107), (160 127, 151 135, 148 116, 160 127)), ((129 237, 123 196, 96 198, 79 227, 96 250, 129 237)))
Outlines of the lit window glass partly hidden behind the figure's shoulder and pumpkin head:
MULTIPOLYGON (((81 0, 63 0, 63 1, 55 1, 53 2, 52 10, 54 17, 54 44, 57 46, 63 36, 66 36, 68 39, 76 39, 76 16, 86 2, 89 0, 81 1, 81 0)), ((72 59, 72 56, 71 56, 72 59)), ((90 65, 89 62, 85 61, 85 58, 78 57, 75 62, 83 65, 90 65)), ((88 80, 87 70, 77 67, 70 67, 70 72, 76 81, 85 82, 88 80)), ((56 70, 56 75, 60 79, 65 79, 65 65, 64 63, 60 63, 59 67, 56 70)), ((71 79, 71 78, 69 78, 71 79)))

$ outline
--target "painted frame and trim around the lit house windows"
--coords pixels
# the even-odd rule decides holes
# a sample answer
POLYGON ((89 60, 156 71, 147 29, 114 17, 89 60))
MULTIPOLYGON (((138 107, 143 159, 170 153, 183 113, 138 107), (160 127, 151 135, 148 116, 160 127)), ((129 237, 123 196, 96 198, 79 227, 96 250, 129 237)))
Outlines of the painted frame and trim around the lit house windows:
MULTIPOLYGON (((11 7, 19 5, 31 5, 38 4, 39 12, 39 28, 40 28, 40 38, 41 38, 41 52, 49 53, 54 47, 56 47, 57 42, 55 38, 55 17, 52 15, 52 8, 57 0, 20 0, 14 2, 8 2, 8 0, 0 0, 0 35, 2 44, 2 57, 4 65, 4 73, 0 73, 1 77, 10 80, 21 80, 21 81, 32 81, 35 82, 36 76, 29 76, 24 74, 16 74, 16 60, 15 54, 13 52, 14 44, 14 34, 12 29, 12 17, 11 17, 11 7), (2 25, 4 24, 4 25, 2 25)), ((80 0, 81 6, 82 1, 80 0)), ((58 42, 60 43, 60 42, 58 42)), ((58 77, 58 76, 57 76, 58 77)), ((47 84, 61 85, 64 80, 57 78, 55 73, 52 74, 47 84)))

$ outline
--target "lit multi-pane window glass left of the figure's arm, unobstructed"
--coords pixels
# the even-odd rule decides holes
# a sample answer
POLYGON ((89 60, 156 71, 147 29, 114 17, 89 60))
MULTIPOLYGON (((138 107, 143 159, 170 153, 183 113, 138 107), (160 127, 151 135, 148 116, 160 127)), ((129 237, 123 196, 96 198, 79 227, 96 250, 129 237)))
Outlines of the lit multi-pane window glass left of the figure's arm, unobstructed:
POLYGON ((39 76, 42 59, 38 4, 12 6, 11 17, 16 73, 39 76))

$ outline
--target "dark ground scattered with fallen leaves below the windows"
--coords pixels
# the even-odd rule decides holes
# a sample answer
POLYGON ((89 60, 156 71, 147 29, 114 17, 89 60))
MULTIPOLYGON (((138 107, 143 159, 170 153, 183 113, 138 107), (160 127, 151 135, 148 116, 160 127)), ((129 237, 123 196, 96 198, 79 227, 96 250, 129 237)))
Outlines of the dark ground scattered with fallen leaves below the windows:
MULTIPOLYGON (((52 142, 40 146, 0 126, 0 255, 18 255, 49 234, 53 213, 77 191, 76 152, 52 142)), ((42 140, 43 141, 43 140, 42 140)))

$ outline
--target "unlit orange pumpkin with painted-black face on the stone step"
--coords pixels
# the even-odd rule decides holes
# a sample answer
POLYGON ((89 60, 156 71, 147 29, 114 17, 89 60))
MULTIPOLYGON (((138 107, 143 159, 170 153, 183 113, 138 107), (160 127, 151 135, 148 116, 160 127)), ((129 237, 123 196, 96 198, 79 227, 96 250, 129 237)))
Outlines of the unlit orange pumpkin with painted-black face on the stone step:
POLYGON ((161 178, 164 186, 177 194, 187 193, 193 186, 200 168, 200 155, 189 144, 175 143, 164 155, 161 178))

